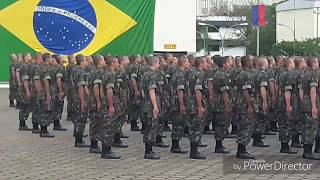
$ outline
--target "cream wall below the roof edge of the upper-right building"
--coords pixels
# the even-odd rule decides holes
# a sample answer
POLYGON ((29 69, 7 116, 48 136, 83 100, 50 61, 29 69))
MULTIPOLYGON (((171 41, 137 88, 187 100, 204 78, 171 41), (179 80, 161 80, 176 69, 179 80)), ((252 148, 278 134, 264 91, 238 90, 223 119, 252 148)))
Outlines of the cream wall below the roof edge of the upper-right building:
POLYGON ((315 17, 312 8, 277 12, 277 42, 293 41, 293 33, 288 28, 279 26, 279 24, 289 26, 294 30, 294 18, 296 19, 296 40, 316 38, 317 23, 315 17))

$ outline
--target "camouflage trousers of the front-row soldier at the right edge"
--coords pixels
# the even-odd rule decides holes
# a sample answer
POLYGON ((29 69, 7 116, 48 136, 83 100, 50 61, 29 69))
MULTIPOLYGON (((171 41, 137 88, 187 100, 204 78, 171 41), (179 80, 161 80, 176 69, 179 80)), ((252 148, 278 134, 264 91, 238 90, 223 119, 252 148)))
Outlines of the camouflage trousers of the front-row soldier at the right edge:
POLYGON ((318 132, 318 119, 313 119, 311 113, 302 113, 302 143, 313 144, 318 132))

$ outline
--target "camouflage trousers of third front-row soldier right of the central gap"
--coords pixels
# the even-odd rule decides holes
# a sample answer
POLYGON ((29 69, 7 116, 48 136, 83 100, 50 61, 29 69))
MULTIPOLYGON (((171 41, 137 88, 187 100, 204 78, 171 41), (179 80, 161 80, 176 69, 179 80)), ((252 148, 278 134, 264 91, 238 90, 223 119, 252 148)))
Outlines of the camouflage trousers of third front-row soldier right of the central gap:
POLYGON ((190 142, 200 143, 204 129, 204 119, 204 117, 200 118, 196 114, 192 114, 188 118, 190 142))

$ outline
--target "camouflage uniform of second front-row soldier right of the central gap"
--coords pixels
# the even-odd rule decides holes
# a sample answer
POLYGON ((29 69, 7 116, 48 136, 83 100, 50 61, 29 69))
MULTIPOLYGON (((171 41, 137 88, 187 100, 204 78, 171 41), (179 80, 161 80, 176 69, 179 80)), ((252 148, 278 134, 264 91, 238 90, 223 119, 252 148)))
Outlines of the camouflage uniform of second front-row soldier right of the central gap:
POLYGON ((180 104, 178 91, 182 90, 184 92, 184 105, 187 105, 187 80, 185 78, 186 72, 178 69, 176 73, 173 74, 171 79, 173 96, 171 97, 171 111, 172 111, 172 140, 181 140, 184 133, 185 124, 188 115, 180 113, 180 104))

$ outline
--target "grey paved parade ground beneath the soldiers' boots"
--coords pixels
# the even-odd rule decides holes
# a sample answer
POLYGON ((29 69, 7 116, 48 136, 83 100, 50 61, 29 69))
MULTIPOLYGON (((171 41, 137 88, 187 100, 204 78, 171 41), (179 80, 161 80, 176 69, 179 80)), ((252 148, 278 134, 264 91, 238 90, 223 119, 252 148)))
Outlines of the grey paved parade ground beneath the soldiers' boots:
MULTIPOLYGON (((31 132, 18 131, 18 110, 8 107, 8 90, 0 89, 0 180, 6 179, 320 179, 320 168, 303 174, 235 174, 223 173, 223 156, 215 154, 213 135, 204 135, 203 142, 207 148, 200 150, 207 155, 206 160, 190 160, 188 154, 172 154, 170 148, 154 148, 161 155, 160 160, 144 160, 144 144, 140 132, 129 131, 125 124, 124 134, 129 139, 124 139, 129 144, 127 149, 113 148, 113 151, 122 155, 121 160, 101 159, 97 154, 88 153, 86 148, 74 148, 72 138, 73 125, 65 121, 63 125, 67 132, 54 132, 54 139, 39 138, 31 132), (310 174, 311 173, 311 174, 310 174), (309 174, 309 175, 307 175, 309 174)), ((31 127, 31 122, 28 120, 31 127)), ((52 132, 52 126, 49 128, 52 132)), ((88 126, 86 127, 86 134, 88 126)), ((165 132, 168 137, 166 143, 171 144, 170 132, 165 132)), ((88 138, 85 138, 89 143, 88 138)), ((253 148, 250 144, 248 150, 259 157, 287 157, 295 162, 301 159, 299 155, 284 156, 278 153, 278 136, 267 136, 266 143, 270 148, 253 148)), ((252 142, 251 142, 252 143, 252 142)), ((236 153, 235 139, 226 139, 224 144, 236 153)), ((182 148, 189 150, 189 141, 183 138, 182 148)), ((283 159, 282 159, 283 160, 283 159)), ((316 167, 320 162, 309 162, 316 167)), ((231 167, 230 162, 225 162, 226 169, 231 167), (229 166, 229 167, 228 167, 229 166)), ((319 166, 320 167, 320 166, 319 166)))

